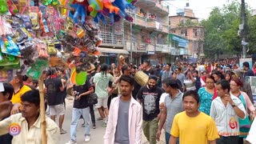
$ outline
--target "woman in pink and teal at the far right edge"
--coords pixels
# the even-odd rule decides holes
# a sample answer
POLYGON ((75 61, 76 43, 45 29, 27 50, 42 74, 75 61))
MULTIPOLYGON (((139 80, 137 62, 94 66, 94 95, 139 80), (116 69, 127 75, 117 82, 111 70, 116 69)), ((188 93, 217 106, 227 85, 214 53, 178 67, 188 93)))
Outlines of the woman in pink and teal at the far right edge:
POLYGON ((232 78, 230 81, 230 94, 238 97, 242 105, 246 108, 247 110, 247 116, 244 120, 239 118, 239 126, 240 126, 240 136, 239 136, 239 141, 238 143, 242 144, 243 143, 243 138, 246 138, 249 130, 250 130, 250 119, 248 118, 249 111, 252 113, 252 117, 255 118, 255 108, 252 102, 250 102, 250 98, 245 92, 242 92, 240 90, 240 87, 242 87, 242 81, 238 78, 232 78))

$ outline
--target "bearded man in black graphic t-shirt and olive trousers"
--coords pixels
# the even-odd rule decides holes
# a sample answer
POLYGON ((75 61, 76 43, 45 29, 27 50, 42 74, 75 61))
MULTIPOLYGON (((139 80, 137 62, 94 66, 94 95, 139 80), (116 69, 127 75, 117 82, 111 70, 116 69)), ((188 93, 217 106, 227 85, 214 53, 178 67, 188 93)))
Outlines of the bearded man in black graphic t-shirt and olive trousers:
POLYGON ((159 100, 162 90, 157 86, 157 80, 157 76, 150 75, 147 85, 142 86, 137 94, 137 100, 143 107, 143 132, 150 144, 156 143, 158 114, 160 114, 159 100))

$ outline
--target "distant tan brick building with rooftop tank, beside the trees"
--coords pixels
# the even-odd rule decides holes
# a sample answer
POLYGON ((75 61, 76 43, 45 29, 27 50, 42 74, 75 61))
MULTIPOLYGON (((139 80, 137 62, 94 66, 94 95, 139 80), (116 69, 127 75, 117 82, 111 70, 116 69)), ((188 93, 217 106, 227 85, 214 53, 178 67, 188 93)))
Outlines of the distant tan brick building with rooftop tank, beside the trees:
POLYGON ((170 16, 169 20, 170 33, 189 40, 188 53, 184 56, 198 59, 204 57, 204 28, 199 25, 198 18, 194 16, 193 10, 177 10, 177 15, 170 16))

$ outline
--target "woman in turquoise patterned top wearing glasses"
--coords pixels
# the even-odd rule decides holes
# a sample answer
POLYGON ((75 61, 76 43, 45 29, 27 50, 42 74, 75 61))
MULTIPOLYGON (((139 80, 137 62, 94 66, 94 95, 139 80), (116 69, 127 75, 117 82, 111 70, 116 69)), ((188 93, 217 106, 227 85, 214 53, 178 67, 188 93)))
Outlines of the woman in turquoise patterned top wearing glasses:
POLYGON ((214 77, 210 74, 206 76, 206 86, 201 87, 198 90, 198 95, 200 97, 200 107, 199 110, 203 113, 210 115, 210 106, 214 98, 217 97, 217 91, 214 88, 214 77))

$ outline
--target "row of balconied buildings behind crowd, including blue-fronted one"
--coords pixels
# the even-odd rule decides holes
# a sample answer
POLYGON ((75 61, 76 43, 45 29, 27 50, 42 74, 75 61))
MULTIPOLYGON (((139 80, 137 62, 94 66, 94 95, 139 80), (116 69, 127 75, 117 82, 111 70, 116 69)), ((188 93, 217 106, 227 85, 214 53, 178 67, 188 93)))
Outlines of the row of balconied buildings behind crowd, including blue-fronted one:
POLYGON ((150 60, 151 65, 173 63, 187 58, 189 40, 179 34, 170 34, 169 7, 158 0, 140 0, 135 10, 126 10, 134 20, 115 22, 113 26, 100 22, 102 52, 100 62, 118 62, 118 54, 127 62, 140 64, 150 60))

